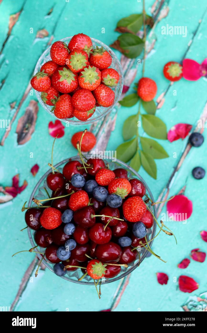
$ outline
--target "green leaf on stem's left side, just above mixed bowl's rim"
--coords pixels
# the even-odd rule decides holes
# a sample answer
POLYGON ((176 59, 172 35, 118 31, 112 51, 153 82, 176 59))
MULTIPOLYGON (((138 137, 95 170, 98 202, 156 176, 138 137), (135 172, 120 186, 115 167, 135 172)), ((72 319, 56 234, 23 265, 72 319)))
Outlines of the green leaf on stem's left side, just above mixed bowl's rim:
POLYGON ((137 137, 124 142, 117 147, 116 154, 117 158, 123 162, 128 162, 135 155, 137 150, 137 137))

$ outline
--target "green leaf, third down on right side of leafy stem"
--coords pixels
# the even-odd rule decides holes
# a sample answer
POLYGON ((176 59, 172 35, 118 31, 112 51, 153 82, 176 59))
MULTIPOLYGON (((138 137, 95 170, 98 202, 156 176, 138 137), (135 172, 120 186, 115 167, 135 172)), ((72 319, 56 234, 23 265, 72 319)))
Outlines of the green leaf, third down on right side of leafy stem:
POLYGON ((169 157, 164 148, 155 140, 141 137, 140 142, 143 151, 151 155, 154 159, 166 159, 169 157))

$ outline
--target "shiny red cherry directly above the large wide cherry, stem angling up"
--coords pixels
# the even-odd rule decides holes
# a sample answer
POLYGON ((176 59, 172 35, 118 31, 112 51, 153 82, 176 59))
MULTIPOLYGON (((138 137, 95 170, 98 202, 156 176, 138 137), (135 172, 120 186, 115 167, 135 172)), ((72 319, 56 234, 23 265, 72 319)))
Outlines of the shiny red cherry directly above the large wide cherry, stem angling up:
POLYGON ((89 229, 90 239, 97 244, 106 244, 111 240, 112 231, 102 223, 96 223, 89 229))

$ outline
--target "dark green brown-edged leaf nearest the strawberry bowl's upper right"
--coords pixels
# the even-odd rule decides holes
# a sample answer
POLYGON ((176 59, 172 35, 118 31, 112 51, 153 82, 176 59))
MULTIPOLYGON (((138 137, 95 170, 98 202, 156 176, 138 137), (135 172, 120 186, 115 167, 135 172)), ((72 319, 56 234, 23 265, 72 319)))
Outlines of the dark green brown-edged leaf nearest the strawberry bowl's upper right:
POLYGON ((118 37, 118 40, 120 42, 120 47, 124 51, 124 55, 128 58, 136 58, 143 50, 144 42, 136 35, 129 33, 122 34, 118 37))

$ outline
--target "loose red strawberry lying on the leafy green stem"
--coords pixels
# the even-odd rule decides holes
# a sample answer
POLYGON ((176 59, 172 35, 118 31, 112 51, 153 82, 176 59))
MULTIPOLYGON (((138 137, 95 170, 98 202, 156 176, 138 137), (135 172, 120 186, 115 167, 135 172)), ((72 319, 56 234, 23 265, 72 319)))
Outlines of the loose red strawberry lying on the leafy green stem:
POLYGON ((153 100, 157 92, 155 81, 149 78, 142 78, 138 82, 137 95, 145 102, 153 100))

